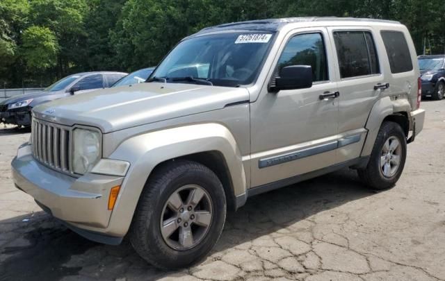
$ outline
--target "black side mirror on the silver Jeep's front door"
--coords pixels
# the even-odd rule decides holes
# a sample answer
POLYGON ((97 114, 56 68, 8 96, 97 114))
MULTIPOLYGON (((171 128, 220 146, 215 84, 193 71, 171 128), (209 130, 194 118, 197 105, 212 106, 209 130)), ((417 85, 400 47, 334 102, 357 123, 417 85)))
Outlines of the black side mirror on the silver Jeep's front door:
POLYGON ((273 90, 297 90, 312 87, 312 67, 310 65, 289 65, 275 78, 273 90))

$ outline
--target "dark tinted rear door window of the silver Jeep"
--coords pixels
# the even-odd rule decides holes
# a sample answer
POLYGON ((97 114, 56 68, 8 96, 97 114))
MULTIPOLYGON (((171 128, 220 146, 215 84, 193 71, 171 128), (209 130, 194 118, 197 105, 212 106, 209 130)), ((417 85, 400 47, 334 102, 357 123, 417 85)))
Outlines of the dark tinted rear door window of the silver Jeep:
POLYGON ((341 78, 380 73, 371 33, 367 31, 337 31, 334 32, 334 41, 339 58, 341 78))

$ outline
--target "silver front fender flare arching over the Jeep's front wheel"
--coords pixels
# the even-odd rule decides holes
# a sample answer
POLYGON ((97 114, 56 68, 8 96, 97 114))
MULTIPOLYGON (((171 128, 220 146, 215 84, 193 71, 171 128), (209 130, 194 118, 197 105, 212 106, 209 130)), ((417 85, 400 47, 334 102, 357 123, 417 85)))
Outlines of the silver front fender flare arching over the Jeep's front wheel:
POLYGON ((111 215, 108 233, 125 235, 145 182, 153 169, 166 160, 218 151, 225 158, 234 195, 245 194, 246 180, 241 153, 230 131, 220 124, 195 124, 137 135, 125 140, 109 156, 131 163, 111 215))

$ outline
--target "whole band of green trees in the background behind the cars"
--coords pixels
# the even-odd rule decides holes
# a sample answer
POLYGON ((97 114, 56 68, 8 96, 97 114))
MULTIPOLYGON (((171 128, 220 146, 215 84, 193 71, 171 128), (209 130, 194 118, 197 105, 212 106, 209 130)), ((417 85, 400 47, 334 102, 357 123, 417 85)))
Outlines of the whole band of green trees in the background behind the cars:
POLYGON ((133 71, 158 64, 206 26, 273 17, 394 19, 410 29, 418 53, 424 38, 432 53, 444 53, 443 1, 0 0, 0 83, 44 86, 76 71, 133 71))

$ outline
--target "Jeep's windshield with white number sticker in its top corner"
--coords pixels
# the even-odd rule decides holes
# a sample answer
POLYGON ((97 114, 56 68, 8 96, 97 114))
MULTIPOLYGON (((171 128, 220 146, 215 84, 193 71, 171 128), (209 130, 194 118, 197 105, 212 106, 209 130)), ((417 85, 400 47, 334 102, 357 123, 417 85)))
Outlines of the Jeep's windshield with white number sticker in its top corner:
POLYGON ((184 40, 165 57, 150 81, 165 78, 167 83, 197 83, 202 79, 209 85, 248 85, 257 78, 272 37, 272 33, 246 32, 184 40))

